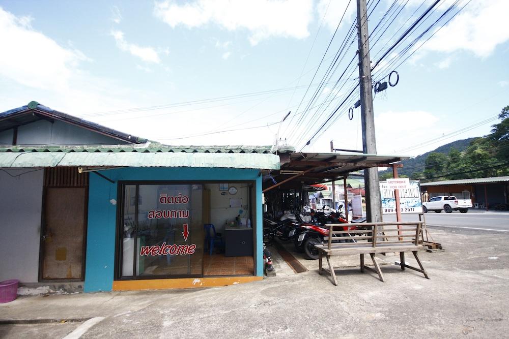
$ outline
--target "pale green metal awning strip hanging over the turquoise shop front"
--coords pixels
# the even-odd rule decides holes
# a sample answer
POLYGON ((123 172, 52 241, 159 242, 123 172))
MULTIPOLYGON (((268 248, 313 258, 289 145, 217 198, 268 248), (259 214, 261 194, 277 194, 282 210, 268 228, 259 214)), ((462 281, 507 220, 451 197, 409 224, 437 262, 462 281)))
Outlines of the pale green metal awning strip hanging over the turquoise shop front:
POLYGON ((260 153, 0 152, 0 167, 218 167, 279 169, 279 157, 260 153))

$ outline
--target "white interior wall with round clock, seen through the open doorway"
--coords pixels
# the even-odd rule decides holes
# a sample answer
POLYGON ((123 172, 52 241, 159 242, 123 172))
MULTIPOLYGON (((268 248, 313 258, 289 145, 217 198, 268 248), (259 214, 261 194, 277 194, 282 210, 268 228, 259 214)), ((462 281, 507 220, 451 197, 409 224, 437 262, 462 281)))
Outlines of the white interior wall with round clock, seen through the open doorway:
MULTIPOLYGON (((204 185, 206 189, 210 190, 210 222, 214 224, 217 232, 224 230, 224 225, 227 220, 235 220, 239 214, 239 209, 243 210, 241 218, 249 217, 249 188, 248 183, 230 183, 230 187, 237 188, 237 194, 231 195, 228 191, 219 191, 218 183, 207 183, 204 185), (225 195, 221 193, 225 192, 225 195), (242 207, 230 207, 231 198, 242 198, 242 207)), ((252 226, 251 220, 251 226, 252 226)))

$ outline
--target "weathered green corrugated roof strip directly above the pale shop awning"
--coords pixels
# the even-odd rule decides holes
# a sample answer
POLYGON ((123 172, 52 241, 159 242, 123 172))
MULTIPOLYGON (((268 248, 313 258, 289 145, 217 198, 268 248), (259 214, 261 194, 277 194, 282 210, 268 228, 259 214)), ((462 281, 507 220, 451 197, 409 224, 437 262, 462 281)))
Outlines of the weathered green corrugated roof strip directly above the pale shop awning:
MULTIPOLYGON (((161 143, 137 145, 17 145, 0 146, 0 152, 184 152, 184 153, 269 153, 272 146, 173 146, 161 143)), ((293 147, 279 147, 278 152, 294 152, 293 147)))

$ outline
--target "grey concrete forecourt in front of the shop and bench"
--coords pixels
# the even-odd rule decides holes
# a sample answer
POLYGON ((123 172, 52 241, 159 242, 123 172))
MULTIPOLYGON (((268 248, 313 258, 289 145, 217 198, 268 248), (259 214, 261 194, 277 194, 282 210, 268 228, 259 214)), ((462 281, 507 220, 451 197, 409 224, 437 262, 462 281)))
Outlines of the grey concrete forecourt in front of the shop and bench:
MULTIPOLYGON (((309 271, 295 274, 274 253, 277 275, 261 282, 19 297, 0 304, 0 320, 94 318, 83 338, 507 337, 509 234, 430 230, 445 250, 420 254, 431 280, 401 271, 395 256, 379 257, 386 283, 360 273, 356 257, 334 258, 336 287, 318 275, 318 261, 302 260, 309 271)), ((83 324, 4 324, 0 337, 58 338, 83 324)))

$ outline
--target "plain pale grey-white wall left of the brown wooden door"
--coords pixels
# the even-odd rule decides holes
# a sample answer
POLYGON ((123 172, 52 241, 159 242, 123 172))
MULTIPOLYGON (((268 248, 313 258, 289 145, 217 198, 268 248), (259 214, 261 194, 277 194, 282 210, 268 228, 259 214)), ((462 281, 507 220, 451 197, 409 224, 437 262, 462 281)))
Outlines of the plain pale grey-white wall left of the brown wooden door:
POLYGON ((0 170, 0 281, 38 281, 43 176, 42 168, 0 170))

